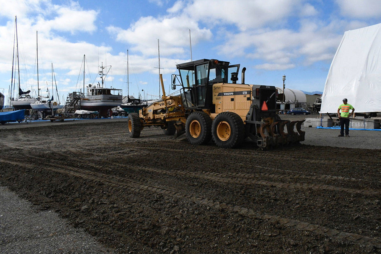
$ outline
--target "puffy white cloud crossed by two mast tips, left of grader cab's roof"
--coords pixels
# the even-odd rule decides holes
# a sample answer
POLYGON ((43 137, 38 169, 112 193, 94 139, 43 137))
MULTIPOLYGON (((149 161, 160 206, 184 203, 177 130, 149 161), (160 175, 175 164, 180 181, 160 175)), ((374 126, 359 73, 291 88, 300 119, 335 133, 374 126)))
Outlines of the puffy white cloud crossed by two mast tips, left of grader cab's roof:
POLYGON ((146 56, 158 54, 157 39, 160 40, 160 55, 183 54, 184 46, 189 45, 189 29, 192 30, 192 43, 209 40, 211 31, 199 28, 196 21, 179 16, 173 18, 142 17, 127 30, 110 26, 107 30, 119 42, 131 43, 133 51, 146 56))

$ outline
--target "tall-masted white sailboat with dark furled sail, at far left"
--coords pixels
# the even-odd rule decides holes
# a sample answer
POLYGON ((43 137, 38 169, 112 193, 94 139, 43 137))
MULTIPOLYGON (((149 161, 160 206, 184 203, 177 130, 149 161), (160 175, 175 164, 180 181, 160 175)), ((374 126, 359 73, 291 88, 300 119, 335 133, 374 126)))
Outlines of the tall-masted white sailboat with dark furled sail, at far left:
MULTIPOLYGON (((18 36, 17 36, 17 16, 14 19, 14 24, 15 24, 15 36, 16 36, 16 59, 14 59, 14 44, 13 44, 13 58, 12 58, 12 79, 11 79, 11 91, 13 89, 13 86, 15 86, 16 81, 16 75, 13 77, 13 68, 14 68, 14 63, 17 61, 17 69, 18 69, 18 96, 16 98, 10 98, 10 102, 14 109, 30 109, 30 103, 36 102, 37 99, 33 98, 32 96, 29 95, 30 90, 24 92, 20 88, 20 68, 19 68, 19 43, 18 43, 18 36)), ((15 73, 16 74, 16 73, 15 73)))

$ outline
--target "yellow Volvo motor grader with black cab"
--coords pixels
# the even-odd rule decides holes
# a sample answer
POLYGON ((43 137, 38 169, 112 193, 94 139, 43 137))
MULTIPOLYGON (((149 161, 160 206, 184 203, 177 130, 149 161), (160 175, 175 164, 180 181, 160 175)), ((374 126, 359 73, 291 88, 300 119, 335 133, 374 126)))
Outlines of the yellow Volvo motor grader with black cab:
POLYGON ((160 76, 162 100, 129 114, 130 137, 139 137, 144 127, 156 126, 167 135, 185 132, 194 145, 213 139, 223 148, 237 147, 247 137, 261 148, 304 141, 304 120, 281 120, 276 111, 275 86, 245 84, 246 68, 239 84, 239 64, 200 59, 176 66, 179 74, 172 75, 172 89, 180 86, 180 94, 166 96, 160 76))

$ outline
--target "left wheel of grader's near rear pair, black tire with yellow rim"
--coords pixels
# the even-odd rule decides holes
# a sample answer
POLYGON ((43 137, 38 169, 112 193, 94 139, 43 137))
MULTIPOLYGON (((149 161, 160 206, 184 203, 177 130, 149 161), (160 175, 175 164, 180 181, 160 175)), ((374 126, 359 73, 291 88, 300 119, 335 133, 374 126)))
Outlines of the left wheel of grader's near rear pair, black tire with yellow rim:
POLYGON ((192 145, 207 144, 211 135, 212 120, 210 116, 201 111, 192 112, 185 125, 185 131, 189 143, 192 145))

